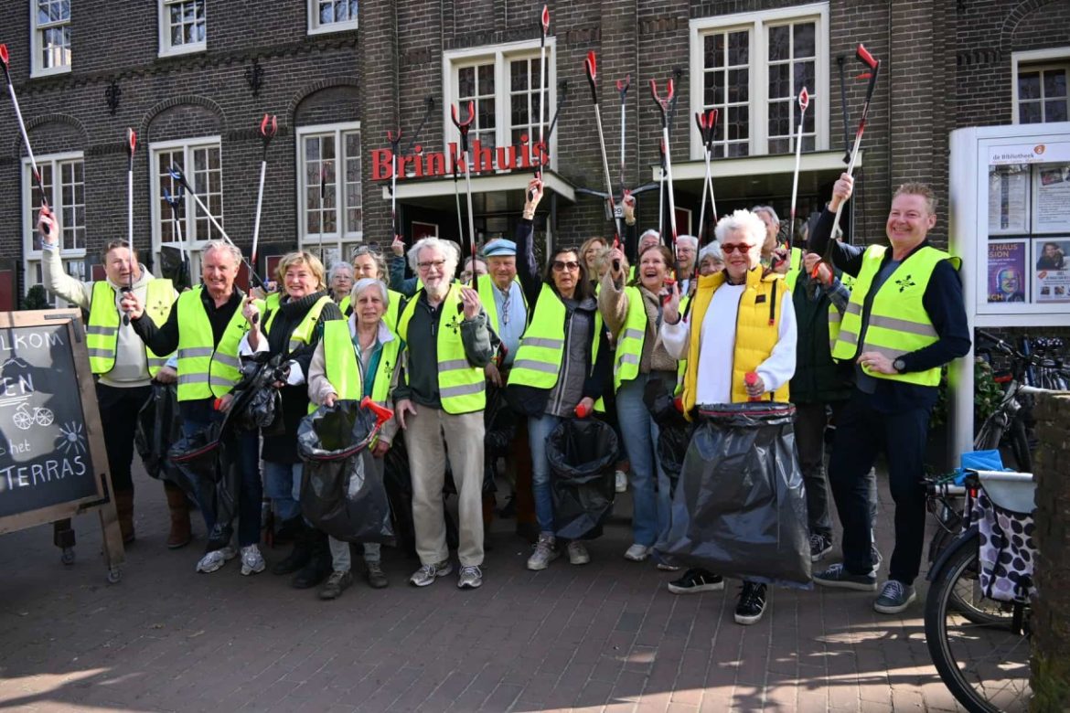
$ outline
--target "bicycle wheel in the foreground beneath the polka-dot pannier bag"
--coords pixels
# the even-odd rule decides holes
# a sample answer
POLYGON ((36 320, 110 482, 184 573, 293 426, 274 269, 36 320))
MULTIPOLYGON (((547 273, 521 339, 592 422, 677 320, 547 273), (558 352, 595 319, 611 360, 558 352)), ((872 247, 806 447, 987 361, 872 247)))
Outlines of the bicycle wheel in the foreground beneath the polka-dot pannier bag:
POLYGON ((1012 605, 979 594, 976 534, 961 539, 933 576, 926 599, 926 645, 944 684, 970 713, 1026 711, 1029 708, 1028 607, 1024 631, 1012 626, 1012 605), (952 594, 958 593, 958 598, 952 594), (1002 613, 995 621, 975 623, 954 600, 1002 613))

